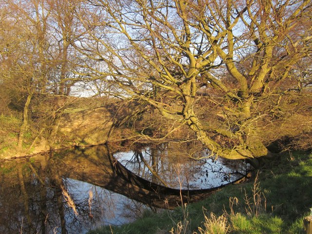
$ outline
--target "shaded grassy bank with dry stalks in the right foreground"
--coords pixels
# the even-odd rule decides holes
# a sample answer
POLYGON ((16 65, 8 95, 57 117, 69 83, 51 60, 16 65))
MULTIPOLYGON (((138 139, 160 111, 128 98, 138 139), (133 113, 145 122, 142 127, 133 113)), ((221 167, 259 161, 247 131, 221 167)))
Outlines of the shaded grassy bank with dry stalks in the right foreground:
POLYGON ((90 234, 304 234, 312 207, 312 154, 281 156, 244 184, 229 185, 208 199, 90 234))

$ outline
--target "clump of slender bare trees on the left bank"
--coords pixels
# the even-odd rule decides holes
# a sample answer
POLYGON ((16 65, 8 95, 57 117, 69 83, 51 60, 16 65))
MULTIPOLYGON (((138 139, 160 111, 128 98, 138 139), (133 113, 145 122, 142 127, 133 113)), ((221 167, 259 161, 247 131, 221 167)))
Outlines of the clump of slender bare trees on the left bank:
POLYGON ((2 109, 22 112, 20 150, 30 122, 35 135, 41 136, 78 82, 78 54, 70 44, 81 35, 74 18, 79 2, 9 0, 0 5, 2 109))

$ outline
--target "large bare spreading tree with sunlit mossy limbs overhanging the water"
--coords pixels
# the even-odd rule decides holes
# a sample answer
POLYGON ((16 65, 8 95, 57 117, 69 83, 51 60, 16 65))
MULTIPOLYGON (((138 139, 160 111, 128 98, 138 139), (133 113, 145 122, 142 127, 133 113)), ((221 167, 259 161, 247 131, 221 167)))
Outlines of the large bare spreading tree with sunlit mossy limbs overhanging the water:
POLYGON ((269 155, 259 124, 311 97, 311 0, 87 0, 80 10, 89 37, 76 46, 97 61, 88 75, 189 126, 217 156, 269 155))

